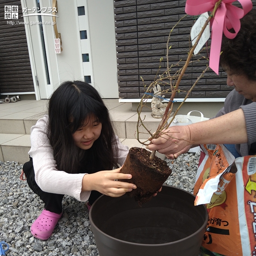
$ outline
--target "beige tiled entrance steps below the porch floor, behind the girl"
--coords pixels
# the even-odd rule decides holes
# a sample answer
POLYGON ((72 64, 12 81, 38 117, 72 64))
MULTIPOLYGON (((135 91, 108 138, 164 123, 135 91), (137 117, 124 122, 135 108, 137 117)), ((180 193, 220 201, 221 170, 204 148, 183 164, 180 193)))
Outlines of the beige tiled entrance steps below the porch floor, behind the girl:
MULTIPOLYGON (((38 115, 23 120, 0 119, 0 161, 15 161, 23 164, 28 161, 28 151, 31 147, 30 129, 42 115, 38 115)), ((126 119, 127 117, 125 117, 126 119)), ((151 117, 150 113, 143 114, 144 125, 154 132, 159 124, 159 120, 151 117)), ((126 120, 113 121, 116 134, 124 145, 131 147, 142 147, 136 140, 137 116, 133 113, 126 120)), ((141 126, 139 128, 141 141, 147 141, 148 132, 141 126)))

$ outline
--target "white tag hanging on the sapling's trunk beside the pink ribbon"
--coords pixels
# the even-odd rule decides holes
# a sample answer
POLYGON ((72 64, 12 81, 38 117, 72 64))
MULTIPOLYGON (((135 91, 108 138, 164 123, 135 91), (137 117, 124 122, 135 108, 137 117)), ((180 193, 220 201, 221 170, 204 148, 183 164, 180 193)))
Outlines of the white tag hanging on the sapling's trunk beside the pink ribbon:
MULTIPOLYGON (((195 21, 194 26, 191 29, 191 41, 192 45, 194 46, 197 36, 202 30, 203 25, 205 24, 206 20, 209 18, 209 14, 202 13, 200 17, 195 21)), ((200 38, 197 46, 195 47, 194 54, 198 54, 201 48, 204 46, 204 44, 207 42, 207 40, 210 38, 210 24, 208 23, 207 27, 205 28, 202 37, 200 38)))

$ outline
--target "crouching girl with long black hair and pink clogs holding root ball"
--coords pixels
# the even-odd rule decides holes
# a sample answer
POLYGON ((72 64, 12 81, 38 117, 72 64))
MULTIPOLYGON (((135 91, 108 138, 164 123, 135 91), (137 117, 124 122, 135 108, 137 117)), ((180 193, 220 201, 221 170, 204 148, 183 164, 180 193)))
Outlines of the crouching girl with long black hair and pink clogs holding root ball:
POLYGON ((62 198, 88 200, 88 209, 102 194, 113 197, 136 189, 121 174, 128 147, 115 136, 108 109, 98 92, 81 81, 67 81, 54 92, 48 115, 31 128, 30 162, 23 166, 29 187, 45 209, 31 233, 47 240, 62 215, 62 198), (113 168, 117 168, 114 169, 113 168))

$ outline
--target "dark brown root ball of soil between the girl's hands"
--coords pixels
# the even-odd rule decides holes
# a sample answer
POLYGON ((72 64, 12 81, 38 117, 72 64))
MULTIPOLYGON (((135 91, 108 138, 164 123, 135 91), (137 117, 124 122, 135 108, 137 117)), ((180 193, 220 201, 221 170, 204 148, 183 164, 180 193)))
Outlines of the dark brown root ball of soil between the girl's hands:
POLYGON ((150 161, 150 154, 151 152, 144 148, 130 148, 121 168, 121 173, 133 176, 132 179, 123 181, 137 186, 137 189, 133 189, 127 194, 134 197, 140 205, 151 200, 172 172, 167 163, 159 157, 154 156, 150 161))

